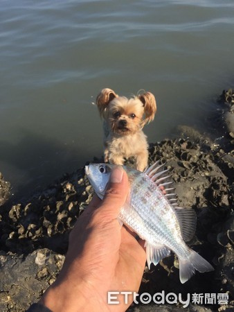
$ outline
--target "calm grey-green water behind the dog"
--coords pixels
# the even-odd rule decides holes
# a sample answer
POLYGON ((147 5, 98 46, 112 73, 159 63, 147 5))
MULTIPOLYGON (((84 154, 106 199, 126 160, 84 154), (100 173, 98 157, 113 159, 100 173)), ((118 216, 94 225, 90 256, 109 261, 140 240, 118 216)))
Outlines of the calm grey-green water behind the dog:
POLYGON ((233 87, 233 0, 0 1, 0 171, 13 199, 102 155, 100 89, 152 92, 150 142, 233 87))

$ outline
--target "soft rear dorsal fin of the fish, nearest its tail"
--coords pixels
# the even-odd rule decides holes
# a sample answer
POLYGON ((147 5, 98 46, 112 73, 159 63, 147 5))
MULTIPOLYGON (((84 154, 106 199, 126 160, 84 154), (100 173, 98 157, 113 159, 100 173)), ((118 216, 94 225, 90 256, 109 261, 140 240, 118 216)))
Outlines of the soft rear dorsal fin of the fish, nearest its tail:
POLYGON ((181 234, 185 241, 190 241, 195 234, 197 216, 193 209, 174 207, 181 228, 181 234))

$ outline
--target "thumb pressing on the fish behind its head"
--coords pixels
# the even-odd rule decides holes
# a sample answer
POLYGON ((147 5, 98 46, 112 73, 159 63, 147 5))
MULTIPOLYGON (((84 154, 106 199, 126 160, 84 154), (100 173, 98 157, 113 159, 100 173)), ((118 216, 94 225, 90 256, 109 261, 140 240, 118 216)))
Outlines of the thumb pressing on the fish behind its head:
POLYGON ((129 182, 123 166, 114 166, 109 177, 105 196, 100 204, 100 211, 111 218, 117 218, 120 208, 127 200, 129 182))

